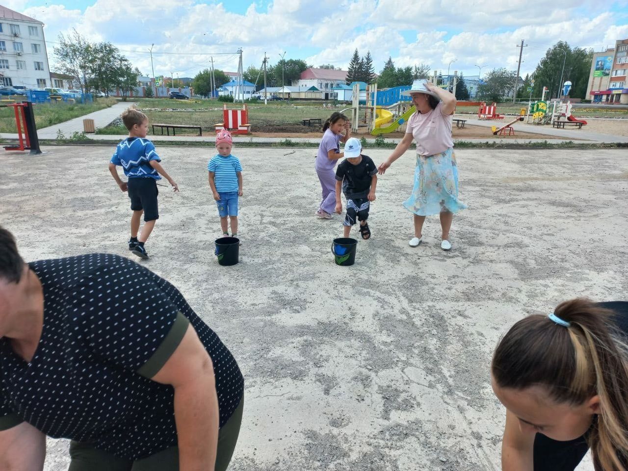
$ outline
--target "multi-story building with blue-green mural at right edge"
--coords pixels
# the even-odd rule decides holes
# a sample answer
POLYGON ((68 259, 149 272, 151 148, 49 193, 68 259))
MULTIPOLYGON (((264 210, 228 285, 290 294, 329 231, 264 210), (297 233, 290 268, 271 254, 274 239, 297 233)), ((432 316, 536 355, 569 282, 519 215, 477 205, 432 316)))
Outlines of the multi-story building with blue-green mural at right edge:
POLYGON ((593 53, 587 98, 598 103, 628 104, 628 39, 615 41, 614 49, 593 53))

